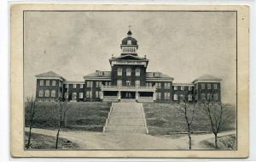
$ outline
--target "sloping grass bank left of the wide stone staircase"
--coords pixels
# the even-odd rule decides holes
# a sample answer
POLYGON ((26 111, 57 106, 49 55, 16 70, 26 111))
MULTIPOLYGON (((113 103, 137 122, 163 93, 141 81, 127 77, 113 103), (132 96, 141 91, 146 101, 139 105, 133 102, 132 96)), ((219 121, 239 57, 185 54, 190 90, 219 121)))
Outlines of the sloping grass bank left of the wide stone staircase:
MULTIPOLYGON (((55 129, 58 126, 59 108, 56 103, 36 103, 34 125, 37 128, 55 129)), ((102 131, 108 118, 111 103, 67 103, 67 129, 102 131)), ((29 108, 26 103, 25 126, 29 126, 29 108)))

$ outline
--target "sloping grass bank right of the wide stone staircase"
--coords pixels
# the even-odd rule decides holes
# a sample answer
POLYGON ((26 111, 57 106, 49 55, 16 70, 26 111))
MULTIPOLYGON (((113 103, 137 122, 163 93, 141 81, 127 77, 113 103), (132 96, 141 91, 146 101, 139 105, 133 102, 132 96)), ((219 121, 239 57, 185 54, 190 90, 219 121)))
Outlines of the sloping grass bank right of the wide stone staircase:
MULTIPOLYGON (((147 120, 148 131, 151 135, 169 135, 176 132, 186 132, 187 123, 177 110, 177 103, 143 103, 147 120)), ((236 109, 228 106, 233 120, 224 127, 223 131, 230 131, 236 128, 236 109)), ((207 116, 199 109, 195 111, 195 120, 192 124, 192 131, 210 131, 210 123, 207 116)))

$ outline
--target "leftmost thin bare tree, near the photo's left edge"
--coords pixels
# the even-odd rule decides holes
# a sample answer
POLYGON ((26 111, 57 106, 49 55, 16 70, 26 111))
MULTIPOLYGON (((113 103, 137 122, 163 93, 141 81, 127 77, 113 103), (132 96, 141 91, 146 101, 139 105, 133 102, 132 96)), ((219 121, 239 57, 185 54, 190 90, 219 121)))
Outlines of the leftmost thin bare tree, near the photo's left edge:
POLYGON ((28 133, 28 139, 26 143, 26 148, 28 149, 30 148, 32 126, 34 125, 36 100, 32 97, 31 100, 29 100, 29 98, 26 98, 26 101, 27 101, 27 107, 29 108, 29 133, 28 133))

